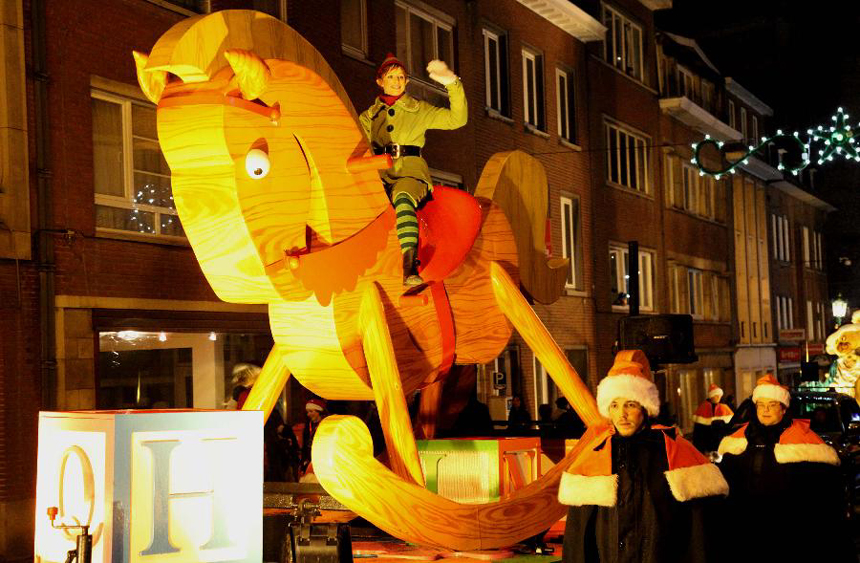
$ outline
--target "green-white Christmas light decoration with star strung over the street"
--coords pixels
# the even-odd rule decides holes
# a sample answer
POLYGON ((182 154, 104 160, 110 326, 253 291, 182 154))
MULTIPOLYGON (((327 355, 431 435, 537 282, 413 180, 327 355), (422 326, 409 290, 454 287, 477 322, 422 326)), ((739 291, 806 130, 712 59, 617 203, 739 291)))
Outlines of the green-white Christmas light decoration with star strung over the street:
POLYGON ((803 142, 800 138, 800 134, 795 131, 791 135, 787 133, 783 133, 781 129, 777 129, 776 135, 772 137, 762 137, 761 143, 756 146, 749 145, 747 147, 747 152, 741 156, 740 158, 729 161, 729 164, 725 168, 720 169, 712 169, 705 166, 699 158, 699 155, 704 147, 707 145, 715 146, 719 151, 720 155, 729 160, 726 155, 726 147, 725 143, 722 141, 717 141, 711 139, 710 135, 705 135, 705 140, 700 143, 693 144, 693 158, 690 160, 696 167, 699 169, 699 175, 704 176, 708 174, 710 176, 714 176, 717 180, 719 180, 723 174, 734 174, 735 169, 738 166, 749 163, 749 157, 753 154, 759 152, 762 148, 766 147, 768 144, 778 141, 778 140, 788 140, 797 144, 801 159, 800 163, 796 166, 785 166, 780 163, 777 168, 779 170, 786 170, 791 172, 795 176, 798 172, 809 166, 811 160, 810 157, 812 155, 812 144, 820 143, 824 145, 824 148, 818 151, 818 164, 824 164, 825 162, 832 161, 833 156, 841 155, 848 160, 854 160, 855 162, 860 162, 860 154, 857 152, 857 145, 855 144, 854 139, 854 130, 851 128, 851 125, 846 123, 848 119, 848 114, 845 113, 842 108, 839 108, 832 118, 833 125, 829 128, 819 125, 816 129, 807 129, 806 134, 808 135, 806 142, 803 142))

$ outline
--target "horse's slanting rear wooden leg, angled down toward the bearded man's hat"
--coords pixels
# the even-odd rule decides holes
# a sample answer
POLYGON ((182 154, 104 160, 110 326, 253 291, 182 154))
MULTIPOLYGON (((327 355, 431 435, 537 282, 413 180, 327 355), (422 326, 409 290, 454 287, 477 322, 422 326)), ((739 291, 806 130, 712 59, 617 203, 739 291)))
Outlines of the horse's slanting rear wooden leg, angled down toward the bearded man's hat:
POLYGON ((553 340, 552 335, 529 306, 511 277, 500 264, 495 262, 491 264, 490 272, 493 276, 493 290, 499 307, 514 324, 517 332, 538 357, 579 417, 588 426, 603 422, 605 419, 597 411, 597 402, 591 391, 567 361, 564 352, 553 340))

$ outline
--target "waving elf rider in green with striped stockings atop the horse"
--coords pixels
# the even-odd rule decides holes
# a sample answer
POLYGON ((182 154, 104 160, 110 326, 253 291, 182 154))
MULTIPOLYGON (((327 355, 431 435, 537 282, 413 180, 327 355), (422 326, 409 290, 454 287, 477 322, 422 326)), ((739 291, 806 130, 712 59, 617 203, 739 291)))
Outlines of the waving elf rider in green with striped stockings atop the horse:
POLYGON ((377 155, 388 154, 392 166, 382 174, 397 214, 397 240, 403 253, 403 283, 424 283, 418 275, 418 217, 416 210, 432 192, 427 162, 421 157, 428 129, 458 129, 469 110, 463 84, 444 61, 427 64, 430 78, 445 86, 450 108, 439 108, 406 93, 406 66, 389 53, 376 71, 382 89, 373 105, 359 116, 364 134, 377 155))

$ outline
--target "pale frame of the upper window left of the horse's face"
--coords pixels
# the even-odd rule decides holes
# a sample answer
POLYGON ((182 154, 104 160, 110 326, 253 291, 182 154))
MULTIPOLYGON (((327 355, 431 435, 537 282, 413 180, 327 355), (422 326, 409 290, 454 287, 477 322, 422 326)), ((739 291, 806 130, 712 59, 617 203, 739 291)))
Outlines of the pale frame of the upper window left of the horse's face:
MULTIPOLYGON (((187 242, 187 238, 182 235, 171 235, 171 234, 163 234, 161 233, 161 215, 168 215, 171 218, 175 218, 175 220, 179 221, 179 212, 174 207, 173 209, 169 207, 162 207, 158 205, 150 205, 147 203, 136 203, 134 201, 134 174, 137 171, 134 167, 134 129, 133 129, 133 121, 132 121, 132 106, 138 105, 143 108, 151 109, 153 111, 156 110, 156 106, 148 101, 144 101, 139 98, 134 98, 131 96, 119 94, 116 92, 111 92, 108 90, 104 90, 101 88, 90 88, 90 105, 92 107, 92 101, 99 100, 102 102, 112 103, 120 106, 120 116, 122 119, 121 128, 122 128, 122 181, 123 181, 123 196, 114 196, 108 194, 100 194, 95 191, 95 182, 93 182, 93 201, 95 206, 103 206, 110 207, 113 209, 128 209, 128 210, 140 210, 146 213, 153 213, 154 220, 153 225, 155 230, 153 232, 146 231, 133 231, 127 229, 115 229, 111 227, 101 227, 98 226, 97 220, 95 216, 93 217, 93 222, 95 224, 95 230, 97 235, 109 235, 109 236, 124 236, 124 237, 134 237, 134 238, 145 238, 147 241, 152 242, 187 242)), ((90 128, 90 136, 92 137, 95 134, 95 128, 90 128)), ((146 141, 155 142, 158 144, 158 139, 150 139, 148 137, 141 137, 146 141)), ((159 152, 161 151, 161 146, 158 145, 159 152)), ((163 152, 162 152, 163 154, 163 152)), ((95 157, 95 155, 93 155, 95 157)), ((95 170, 97 164, 95 159, 93 160, 93 169, 95 170)), ((171 181, 171 196, 170 199, 173 199, 172 195, 172 175, 170 174, 160 174, 156 172, 150 172, 147 170, 140 170, 139 172, 149 174, 152 176, 158 176, 162 178, 167 178, 171 181)), ((95 211, 95 208, 94 208, 95 211)), ((171 221, 172 222, 172 221, 171 221)))

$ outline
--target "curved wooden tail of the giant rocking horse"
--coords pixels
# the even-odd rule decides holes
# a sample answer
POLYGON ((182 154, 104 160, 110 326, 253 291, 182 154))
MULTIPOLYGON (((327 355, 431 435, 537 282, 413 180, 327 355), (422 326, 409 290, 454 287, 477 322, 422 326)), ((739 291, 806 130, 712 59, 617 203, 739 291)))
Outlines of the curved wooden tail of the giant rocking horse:
POLYGON ((475 197, 490 199, 504 210, 517 244, 523 289, 545 304, 559 298, 570 271, 567 258, 546 256, 548 196, 543 165, 521 151, 494 154, 475 189, 475 197))

